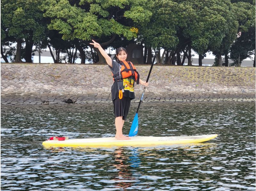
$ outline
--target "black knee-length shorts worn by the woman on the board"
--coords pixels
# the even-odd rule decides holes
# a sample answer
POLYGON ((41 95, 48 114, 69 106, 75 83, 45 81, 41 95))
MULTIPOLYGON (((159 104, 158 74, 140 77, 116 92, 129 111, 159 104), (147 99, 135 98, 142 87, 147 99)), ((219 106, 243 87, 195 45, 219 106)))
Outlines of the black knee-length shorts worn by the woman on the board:
POLYGON ((123 116, 123 120, 126 119, 128 111, 131 105, 130 97, 123 97, 122 99, 116 98, 113 100, 115 118, 123 116))

